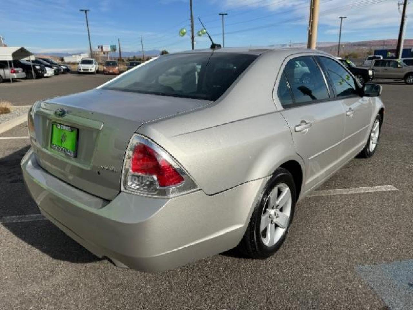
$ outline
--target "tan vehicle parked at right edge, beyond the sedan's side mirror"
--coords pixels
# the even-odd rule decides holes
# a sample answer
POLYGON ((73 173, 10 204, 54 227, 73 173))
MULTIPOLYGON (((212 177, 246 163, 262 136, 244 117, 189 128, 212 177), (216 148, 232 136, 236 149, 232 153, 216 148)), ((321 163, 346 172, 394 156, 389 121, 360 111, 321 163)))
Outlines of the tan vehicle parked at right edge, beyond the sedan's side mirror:
POLYGON ((406 84, 413 84, 413 67, 397 59, 373 60, 370 69, 374 77, 379 79, 400 79, 406 84))

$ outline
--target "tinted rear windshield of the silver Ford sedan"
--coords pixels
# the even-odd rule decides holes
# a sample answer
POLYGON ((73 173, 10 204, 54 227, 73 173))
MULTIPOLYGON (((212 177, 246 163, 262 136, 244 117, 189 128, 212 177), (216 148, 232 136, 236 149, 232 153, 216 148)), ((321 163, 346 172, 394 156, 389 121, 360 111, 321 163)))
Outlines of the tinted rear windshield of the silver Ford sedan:
POLYGON ((105 89, 216 100, 256 55, 194 53, 161 56, 121 76, 105 89))

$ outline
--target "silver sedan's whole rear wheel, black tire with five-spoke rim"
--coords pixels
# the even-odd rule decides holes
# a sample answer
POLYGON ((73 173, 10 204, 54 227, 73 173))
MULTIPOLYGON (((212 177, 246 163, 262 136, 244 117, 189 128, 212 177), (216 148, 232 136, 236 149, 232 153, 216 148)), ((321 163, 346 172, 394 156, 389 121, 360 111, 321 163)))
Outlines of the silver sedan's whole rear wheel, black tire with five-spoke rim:
POLYGON ((294 179, 289 171, 278 168, 261 192, 240 242, 240 251, 249 258, 265 259, 273 255, 285 241, 295 203, 294 179))

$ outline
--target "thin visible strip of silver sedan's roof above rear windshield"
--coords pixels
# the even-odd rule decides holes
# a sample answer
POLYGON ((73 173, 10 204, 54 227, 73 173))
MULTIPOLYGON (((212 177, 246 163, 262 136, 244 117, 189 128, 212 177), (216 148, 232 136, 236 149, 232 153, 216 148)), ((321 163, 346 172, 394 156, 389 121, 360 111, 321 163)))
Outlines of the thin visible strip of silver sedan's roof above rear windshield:
POLYGON ((210 53, 214 51, 214 53, 232 53, 232 54, 249 54, 249 55, 261 55, 265 52, 273 52, 277 53, 280 55, 285 55, 285 54, 298 54, 298 53, 304 53, 304 52, 311 52, 311 53, 318 53, 318 54, 325 54, 325 55, 330 55, 326 52, 323 52, 321 50, 311 50, 308 48, 276 48, 272 46, 249 46, 249 47, 231 47, 231 48, 219 48, 216 50, 211 50, 209 48, 203 48, 199 50, 185 50, 182 52, 176 52, 173 54, 182 54, 182 53, 210 53))

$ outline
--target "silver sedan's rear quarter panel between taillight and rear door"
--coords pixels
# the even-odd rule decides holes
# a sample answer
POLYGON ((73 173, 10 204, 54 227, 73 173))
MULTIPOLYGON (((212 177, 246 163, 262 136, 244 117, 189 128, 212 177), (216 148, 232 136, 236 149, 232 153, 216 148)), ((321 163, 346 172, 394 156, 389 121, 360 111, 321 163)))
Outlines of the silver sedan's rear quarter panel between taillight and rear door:
POLYGON ((208 195, 268 176, 287 160, 301 164, 272 99, 282 60, 261 55, 215 103, 138 132, 175 157, 208 195))

